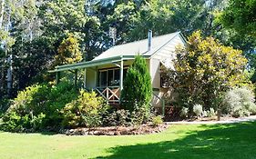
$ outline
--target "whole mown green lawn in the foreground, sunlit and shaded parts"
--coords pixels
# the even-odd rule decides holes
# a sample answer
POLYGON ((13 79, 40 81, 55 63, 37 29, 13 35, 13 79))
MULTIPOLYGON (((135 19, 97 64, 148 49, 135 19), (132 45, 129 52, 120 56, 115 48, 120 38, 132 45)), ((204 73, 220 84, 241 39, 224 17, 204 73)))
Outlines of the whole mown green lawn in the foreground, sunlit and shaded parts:
POLYGON ((256 158, 256 123, 172 125, 161 134, 0 133, 0 158, 256 158))

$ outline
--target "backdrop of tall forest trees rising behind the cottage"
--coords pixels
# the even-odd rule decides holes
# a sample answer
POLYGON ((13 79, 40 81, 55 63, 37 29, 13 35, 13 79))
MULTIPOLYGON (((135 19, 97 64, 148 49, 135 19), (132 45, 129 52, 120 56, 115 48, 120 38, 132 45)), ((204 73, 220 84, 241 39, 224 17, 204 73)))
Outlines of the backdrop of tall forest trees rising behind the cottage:
POLYGON ((16 94, 51 79, 46 71, 56 65, 67 35, 77 37, 77 49, 88 61, 113 45, 109 27, 117 29, 117 45, 146 38, 148 29, 185 36, 201 30, 202 36, 241 49, 253 66, 255 56, 248 53, 255 50, 254 6, 255 0, 1 0, 0 94, 6 92, 10 56, 16 94))

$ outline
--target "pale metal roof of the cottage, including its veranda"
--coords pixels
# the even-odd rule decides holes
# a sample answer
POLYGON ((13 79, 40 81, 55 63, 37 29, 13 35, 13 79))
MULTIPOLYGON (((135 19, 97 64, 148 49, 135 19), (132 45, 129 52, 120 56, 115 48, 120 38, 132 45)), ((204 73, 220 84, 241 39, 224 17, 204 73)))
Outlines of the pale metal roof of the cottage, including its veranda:
POLYGON ((161 47, 167 45, 177 35, 180 35, 181 39, 184 39, 183 35, 180 32, 175 32, 169 35, 155 36, 152 38, 152 48, 150 51, 148 51, 148 39, 139 40, 124 45, 116 45, 109 48, 101 55, 98 55, 91 61, 80 62, 73 65, 56 66, 54 70, 50 70, 48 72, 56 73, 67 70, 89 68, 99 65, 108 65, 121 60, 134 59, 135 56, 138 54, 144 56, 145 58, 149 58, 151 55, 154 55, 156 52, 158 52, 161 47))

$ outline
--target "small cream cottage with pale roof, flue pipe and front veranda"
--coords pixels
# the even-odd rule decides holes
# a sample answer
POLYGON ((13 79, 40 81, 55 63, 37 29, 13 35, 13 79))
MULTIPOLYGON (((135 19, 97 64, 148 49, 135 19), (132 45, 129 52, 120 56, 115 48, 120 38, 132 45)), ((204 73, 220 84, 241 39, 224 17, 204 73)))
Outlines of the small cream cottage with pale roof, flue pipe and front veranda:
POLYGON ((109 104, 119 104, 120 91, 123 88, 123 80, 127 75, 128 67, 139 54, 146 58, 148 63, 154 94, 152 105, 161 107, 163 104, 161 98, 168 89, 161 84, 160 66, 173 67, 175 47, 185 45, 185 43, 180 32, 152 37, 152 32, 149 31, 148 39, 113 46, 91 61, 56 66, 56 69, 50 72, 56 73, 56 78, 58 78, 62 71, 75 70, 75 83, 77 84, 77 70, 82 70, 86 89, 95 90, 109 104))

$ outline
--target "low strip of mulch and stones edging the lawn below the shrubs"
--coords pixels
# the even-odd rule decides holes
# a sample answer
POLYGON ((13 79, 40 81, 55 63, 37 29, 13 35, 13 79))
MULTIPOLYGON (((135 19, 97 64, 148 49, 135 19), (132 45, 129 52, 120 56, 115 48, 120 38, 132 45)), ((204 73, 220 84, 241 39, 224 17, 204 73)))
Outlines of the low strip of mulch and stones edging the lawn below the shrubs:
POLYGON ((96 128, 77 128, 61 130, 60 133, 67 135, 128 135, 128 134, 155 134, 166 130, 168 124, 142 124, 140 126, 109 126, 96 128))

